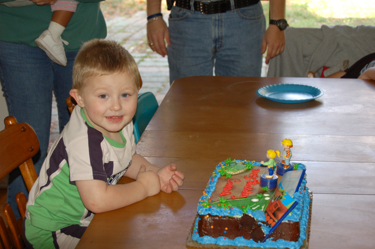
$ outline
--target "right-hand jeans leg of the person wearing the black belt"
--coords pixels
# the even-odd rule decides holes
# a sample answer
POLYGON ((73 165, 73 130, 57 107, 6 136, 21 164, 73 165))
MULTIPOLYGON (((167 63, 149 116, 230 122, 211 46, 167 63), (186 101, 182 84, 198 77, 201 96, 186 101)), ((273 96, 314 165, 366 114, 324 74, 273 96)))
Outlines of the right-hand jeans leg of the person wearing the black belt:
POLYGON ((261 3, 217 15, 215 23, 215 75, 260 77, 265 32, 261 3))

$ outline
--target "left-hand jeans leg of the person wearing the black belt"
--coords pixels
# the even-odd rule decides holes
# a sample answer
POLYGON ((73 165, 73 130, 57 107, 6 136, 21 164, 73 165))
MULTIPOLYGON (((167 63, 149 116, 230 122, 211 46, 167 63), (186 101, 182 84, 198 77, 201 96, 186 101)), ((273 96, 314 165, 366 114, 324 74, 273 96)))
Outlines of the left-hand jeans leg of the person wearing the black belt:
POLYGON ((169 82, 187 76, 212 75, 212 15, 173 6, 167 47, 169 82))

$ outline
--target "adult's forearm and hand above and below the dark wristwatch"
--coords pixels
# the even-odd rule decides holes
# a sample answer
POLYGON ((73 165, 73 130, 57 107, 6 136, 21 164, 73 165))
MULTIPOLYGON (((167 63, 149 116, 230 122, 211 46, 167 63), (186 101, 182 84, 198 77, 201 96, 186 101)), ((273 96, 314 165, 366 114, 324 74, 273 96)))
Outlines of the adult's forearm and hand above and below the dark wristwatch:
MULTIPOLYGON (((269 0, 269 19, 279 20, 285 19, 285 0, 269 0)), ((261 53, 267 50, 265 63, 284 51, 285 36, 284 31, 280 30, 276 25, 270 24, 264 33, 261 53)))

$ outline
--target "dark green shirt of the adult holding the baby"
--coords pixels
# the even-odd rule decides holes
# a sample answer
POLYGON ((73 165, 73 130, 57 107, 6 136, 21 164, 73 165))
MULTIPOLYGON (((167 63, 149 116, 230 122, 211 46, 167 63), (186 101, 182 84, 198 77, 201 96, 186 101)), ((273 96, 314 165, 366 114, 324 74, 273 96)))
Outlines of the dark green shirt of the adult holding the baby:
MULTIPOLYGON (((4 1, 7 0, 0 0, 4 1)), ((69 42, 64 46, 66 52, 78 50, 87 40, 106 36, 101 0, 78 1, 76 12, 61 35, 69 42)), ((48 28, 51 17, 50 5, 7 7, 0 4, 0 41, 36 47, 34 40, 48 28)))

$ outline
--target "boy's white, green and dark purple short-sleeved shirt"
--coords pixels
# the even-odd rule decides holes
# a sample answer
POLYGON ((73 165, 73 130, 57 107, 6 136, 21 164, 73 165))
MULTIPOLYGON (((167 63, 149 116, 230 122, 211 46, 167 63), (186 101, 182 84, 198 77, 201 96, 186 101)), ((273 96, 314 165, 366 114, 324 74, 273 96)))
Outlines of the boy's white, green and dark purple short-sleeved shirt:
POLYGON ((46 231, 79 226, 74 229, 77 234, 70 236, 82 236, 94 214, 83 206, 75 181, 117 183, 135 153, 132 122, 120 135, 122 143, 104 137, 87 121, 80 107, 74 108, 29 193, 25 216, 32 226, 46 231))

